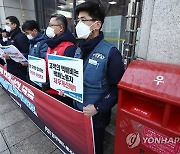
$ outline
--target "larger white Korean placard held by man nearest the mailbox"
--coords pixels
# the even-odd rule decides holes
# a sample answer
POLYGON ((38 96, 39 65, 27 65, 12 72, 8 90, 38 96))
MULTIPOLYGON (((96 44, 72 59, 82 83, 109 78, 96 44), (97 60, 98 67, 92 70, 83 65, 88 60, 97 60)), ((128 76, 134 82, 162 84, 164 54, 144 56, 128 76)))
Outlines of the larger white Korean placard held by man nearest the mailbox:
POLYGON ((48 55, 50 87, 83 102, 83 60, 65 56, 48 55))

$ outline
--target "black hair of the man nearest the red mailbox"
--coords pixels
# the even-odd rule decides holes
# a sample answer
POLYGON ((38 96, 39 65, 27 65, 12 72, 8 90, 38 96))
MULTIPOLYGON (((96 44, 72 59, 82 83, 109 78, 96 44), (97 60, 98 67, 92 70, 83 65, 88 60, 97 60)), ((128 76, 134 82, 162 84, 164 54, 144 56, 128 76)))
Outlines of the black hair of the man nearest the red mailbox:
POLYGON ((79 15, 81 11, 87 12, 93 19, 100 20, 102 24, 104 23, 105 10, 104 7, 98 3, 93 1, 81 3, 76 7, 76 15, 79 15))

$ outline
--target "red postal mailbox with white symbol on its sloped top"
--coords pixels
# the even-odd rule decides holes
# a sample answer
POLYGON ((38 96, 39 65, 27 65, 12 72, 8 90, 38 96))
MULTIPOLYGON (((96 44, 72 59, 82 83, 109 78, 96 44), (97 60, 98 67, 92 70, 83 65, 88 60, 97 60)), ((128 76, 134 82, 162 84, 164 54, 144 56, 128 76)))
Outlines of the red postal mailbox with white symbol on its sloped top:
POLYGON ((115 154, 180 154, 180 65, 137 60, 123 75, 115 154))

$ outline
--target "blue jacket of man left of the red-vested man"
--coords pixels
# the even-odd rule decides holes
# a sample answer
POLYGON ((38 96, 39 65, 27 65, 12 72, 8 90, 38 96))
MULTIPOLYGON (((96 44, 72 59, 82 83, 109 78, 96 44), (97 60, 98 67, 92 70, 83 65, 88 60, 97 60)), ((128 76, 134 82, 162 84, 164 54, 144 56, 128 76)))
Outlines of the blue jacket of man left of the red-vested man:
POLYGON ((38 35, 30 40, 29 55, 45 58, 48 45, 46 42, 49 40, 44 30, 41 30, 38 35))

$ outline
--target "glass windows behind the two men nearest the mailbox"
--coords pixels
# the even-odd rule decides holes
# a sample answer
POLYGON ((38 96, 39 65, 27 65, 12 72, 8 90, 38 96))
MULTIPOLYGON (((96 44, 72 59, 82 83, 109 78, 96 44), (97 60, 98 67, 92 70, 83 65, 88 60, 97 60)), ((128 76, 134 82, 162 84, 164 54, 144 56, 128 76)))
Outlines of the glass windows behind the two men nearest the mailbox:
MULTIPOLYGON (((73 20, 73 1, 74 0, 44 0, 45 24, 49 23, 51 14, 63 14, 68 19, 68 28, 74 32, 73 20)), ((116 46, 119 50, 122 48, 122 42, 125 38, 126 14, 129 0, 91 0, 98 2, 105 8, 106 18, 102 28, 105 39, 116 46)), ((76 4, 85 2, 85 0, 76 0, 76 4)))

